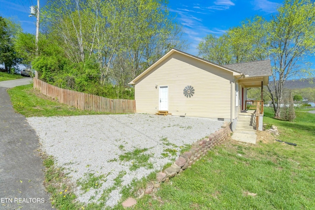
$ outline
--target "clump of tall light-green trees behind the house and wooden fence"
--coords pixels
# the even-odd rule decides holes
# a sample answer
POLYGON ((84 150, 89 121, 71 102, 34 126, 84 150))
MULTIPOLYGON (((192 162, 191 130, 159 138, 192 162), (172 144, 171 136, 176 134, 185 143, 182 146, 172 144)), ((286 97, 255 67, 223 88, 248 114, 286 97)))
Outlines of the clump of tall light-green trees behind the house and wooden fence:
POLYGON ((184 46, 166 0, 51 0, 42 14, 69 60, 97 63, 101 85, 128 86, 165 52, 184 46))

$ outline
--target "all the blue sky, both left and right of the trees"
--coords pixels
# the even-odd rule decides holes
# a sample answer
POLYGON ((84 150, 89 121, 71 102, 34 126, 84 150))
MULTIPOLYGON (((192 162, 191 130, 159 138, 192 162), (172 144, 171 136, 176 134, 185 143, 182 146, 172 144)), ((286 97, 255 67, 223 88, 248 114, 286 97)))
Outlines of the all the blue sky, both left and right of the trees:
MULTIPOLYGON (((47 0, 40 0, 40 7, 47 0)), ((183 26, 188 53, 197 55, 198 43, 207 34, 220 36, 241 21, 255 15, 269 19, 277 13, 283 0, 169 0, 169 10, 183 26)), ((37 0, 0 0, 0 15, 20 21, 25 32, 35 34, 35 17, 29 17, 30 6, 37 0)))

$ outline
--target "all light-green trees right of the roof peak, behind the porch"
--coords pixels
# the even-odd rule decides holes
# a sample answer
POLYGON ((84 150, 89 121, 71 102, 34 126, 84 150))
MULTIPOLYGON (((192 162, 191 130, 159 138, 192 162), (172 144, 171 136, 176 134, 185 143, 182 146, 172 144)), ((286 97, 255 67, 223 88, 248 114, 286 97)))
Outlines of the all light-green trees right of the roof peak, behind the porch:
POLYGON ((271 21, 255 17, 244 21, 240 27, 228 30, 223 35, 228 50, 214 45, 215 49, 208 51, 212 55, 207 57, 208 52, 203 50, 209 46, 206 41, 221 43, 218 41, 221 37, 209 36, 211 39, 206 37, 206 41, 199 44, 199 55, 214 62, 224 60, 219 64, 270 59, 273 84, 268 85, 268 94, 275 117, 280 118, 284 82, 289 78, 310 77, 314 73, 306 62, 308 56, 315 52, 314 8, 315 3, 311 0, 285 0, 271 21), (213 53, 214 50, 224 53, 213 53))

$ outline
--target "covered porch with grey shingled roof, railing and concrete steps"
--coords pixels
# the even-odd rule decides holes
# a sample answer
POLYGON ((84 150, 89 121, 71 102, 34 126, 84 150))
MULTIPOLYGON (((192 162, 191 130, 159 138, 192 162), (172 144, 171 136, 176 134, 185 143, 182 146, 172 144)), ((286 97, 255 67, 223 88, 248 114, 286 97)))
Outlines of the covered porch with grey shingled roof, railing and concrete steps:
POLYGON ((225 67, 243 73, 241 77, 235 78, 236 106, 232 138, 255 144, 256 131, 262 130, 263 87, 268 85, 269 76, 271 75, 270 60, 228 64, 225 67), (257 98, 247 97, 249 88, 260 89, 258 100, 257 98))

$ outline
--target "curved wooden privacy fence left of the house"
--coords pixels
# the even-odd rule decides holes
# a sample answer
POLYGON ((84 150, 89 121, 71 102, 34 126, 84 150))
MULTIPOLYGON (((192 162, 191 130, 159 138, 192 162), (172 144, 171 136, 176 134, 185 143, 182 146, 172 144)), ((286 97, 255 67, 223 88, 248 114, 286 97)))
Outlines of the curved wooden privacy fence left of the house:
POLYGON ((110 99, 98 95, 66 90, 45 83, 39 79, 33 78, 33 88, 38 89, 44 95, 47 95, 60 103, 73 106, 81 110, 95 112, 116 113, 135 113, 135 100, 130 99, 110 99))

